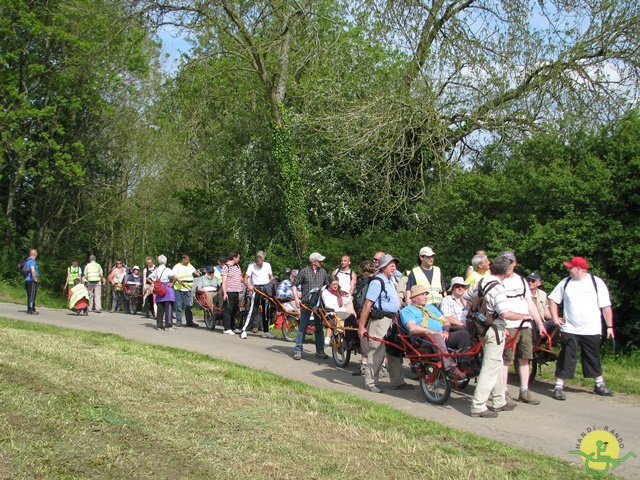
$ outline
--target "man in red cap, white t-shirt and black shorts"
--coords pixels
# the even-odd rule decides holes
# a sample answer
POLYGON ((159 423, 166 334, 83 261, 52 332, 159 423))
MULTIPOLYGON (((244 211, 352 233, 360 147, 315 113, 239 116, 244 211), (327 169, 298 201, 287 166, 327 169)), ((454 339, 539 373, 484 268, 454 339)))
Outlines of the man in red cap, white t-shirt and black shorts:
POLYGON ((594 378, 593 393, 612 396, 602 378, 600 363, 601 318, 607 328, 607 338, 614 338, 613 311, 609 289, 600 277, 587 272, 589 264, 582 257, 564 262, 569 276, 556 285, 549 295, 549 310, 553 321, 562 327, 560 357, 556 364, 556 385, 553 398, 565 400, 564 379, 573 378, 578 359, 578 347, 582 353, 582 374, 594 378), (562 304, 563 317, 558 317, 558 305, 562 304))

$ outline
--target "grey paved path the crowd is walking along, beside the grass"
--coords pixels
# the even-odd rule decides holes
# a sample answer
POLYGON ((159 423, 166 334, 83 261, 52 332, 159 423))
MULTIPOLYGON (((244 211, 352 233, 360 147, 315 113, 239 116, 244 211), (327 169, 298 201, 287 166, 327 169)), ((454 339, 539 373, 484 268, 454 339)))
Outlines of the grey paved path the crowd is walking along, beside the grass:
MULTIPOLYGON (((419 418, 581 465, 579 456, 570 455, 569 450, 575 449, 577 439, 587 432, 587 428, 602 430, 608 427, 609 431, 615 430, 623 439, 625 448, 621 450, 620 457, 629 451, 636 452, 640 457, 640 400, 634 395, 618 394, 613 398, 602 398, 587 390, 568 389, 567 400, 559 402, 550 397, 549 384, 535 382, 532 391, 541 399, 540 405, 519 404, 513 412, 501 413, 496 419, 471 418, 468 413, 473 384, 462 393, 454 392, 444 406, 425 403, 419 388, 401 392, 385 389, 388 379, 381 380, 385 393, 370 393, 363 389, 362 377, 351 375, 359 357, 352 358, 346 369, 336 368, 331 358, 315 358, 312 345, 305 345, 302 360, 296 362, 292 359, 293 345, 284 340, 268 340, 257 335, 249 335, 247 340, 241 340, 239 336, 229 337, 205 328, 158 332, 153 329, 155 321, 139 315, 103 313, 77 317, 65 310, 42 308, 40 315, 34 317, 27 315, 24 307, 0 303, 0 317, 114 333, 140 342, 203 353, 319 388, 357 395, 419 418)), ((407 382, 418 387, 413 380, 407 382)), ((517 387, 510 387, 510 393, 516 396, 517 387)), ((610 472, 626 478, 640 478, 640 458, 629 458, 610 472)))

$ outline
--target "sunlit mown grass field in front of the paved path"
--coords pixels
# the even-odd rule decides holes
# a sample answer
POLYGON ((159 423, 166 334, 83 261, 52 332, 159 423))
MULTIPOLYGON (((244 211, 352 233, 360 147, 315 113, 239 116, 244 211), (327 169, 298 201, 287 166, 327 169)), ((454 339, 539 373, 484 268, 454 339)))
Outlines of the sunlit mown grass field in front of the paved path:
POLYGON ((0 478, 586 478, 182 350, 0 319, 0 478))

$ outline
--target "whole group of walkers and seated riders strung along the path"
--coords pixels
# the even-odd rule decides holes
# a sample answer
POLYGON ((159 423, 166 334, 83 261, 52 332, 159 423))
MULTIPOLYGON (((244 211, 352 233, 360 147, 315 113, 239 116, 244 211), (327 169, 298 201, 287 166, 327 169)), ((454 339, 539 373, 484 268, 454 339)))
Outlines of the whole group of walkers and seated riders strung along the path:
MULTIPOLYGON (((36 258, 37 251, 31 249, 25 262, 28 271, 25 287, 27 312, 37 315, 36 258)), ((142 272, 138 266, 129 271, 118 260, 105 276, 91 255, 84 269, 77 260, 72 261, 67 269, 65 289, 69 307, 77 314, 100 313, 101 290, 108 281, 113 292, 111 311, 136 313, 129 309, 130 295, 124 292, 126 285, 129 287, 126 290, 142 297, 142 311, 147 316, 155 315, 156 328, 161 331, 175 330, 174 309, 175 325, 198 327, 193 321, 194 297, 206 295, 222 310, 223 334, 246 339, 249 328, 261 320, 263 337, 273 338, 265 315, 265 298, 257 293, 274 280, 271 265, 265 260, 265 253, 259 251, 243 274, 240 253, 233 250, 227 257, 220 257, 217 266, 207 266, 199 275, 189 255, 182 255, 173 268, 168 267, 167 258, 160 255, 157 266, 148 257, 142 272), (251 304, 240 325, 237 312, 240 296, 245 291, 251 297, 251 304)), ((516 407, 507 389, 507 374, 514 361, 520 379, 517 400, 530 405, 540 403, 528 385, 533 342, 537 335, 546 335, 554 329, 560 329, 562 335, 553 398, 566 399, 564 380, 573 378, 579 351, 583 375, 595 380, 594 393, 613 395, 604 384, 599 355, 602 319, 607 337, 614 337, 611 300, 606 284, 588 272, 589 265, 583 257, 573 257, 564 263, 568 276, 549 296, 540 289, 542 278, 537 272, 530 272, 526 278, 515 272, 517 259, 512 251, 505 251, 490 261, 484 250, 477 250, 466 278, 453 277, 448 288, 440 268, 435 265, 435 252, 431 247, 420 249, 415 265, 404 272, 398 268, 399 260, 384 252, 377 252, 372 261, 362 262, 360 275, 351 269, 348 255, 341 257, 340 267, 331 273, 323 267, 324 261, 323 255, 312 253, 308 266, 300 270, 285 269, 286 277, 277 287, 276 296, 285 309, 299 313, 294 360, 302 358, 303 342, 312 320, 315 322, 315 356, 328 358, 325 347, 330 344, 331 332, 325 336, 318 316, 313 316, 316 305, 312 305, 312 299, 317 302, 320 291, 327 310, 334 312, 345 325, 357 326, 362 362, 354 374, 364 376, 365 389, 382 392, 378 380, 388 372, 391 389, 410 390, 413 385, 405 382, 402 358, 386 355, 385 343, 376 339, 383 338, 397 319, 419 350, 465 352, 471 348, 472 341, 465 328, 467 316, 474 299, 480 295, 486 302, 492 327, 484 335, 482 366, 471 416, 492 418, 498 412, 516 407), (561 305, 562 316, 559 315, 561 305), (514 349, 505 351, 505 332, 514 336, 518 330, 514 349), (429 341, 425 341, 425 337, 429 341)), ((458 381, 465 380, 469 373, 468 369, 467 373, 461 370, 454 358, 443 358, 443 365, 446 374, 458 381)))

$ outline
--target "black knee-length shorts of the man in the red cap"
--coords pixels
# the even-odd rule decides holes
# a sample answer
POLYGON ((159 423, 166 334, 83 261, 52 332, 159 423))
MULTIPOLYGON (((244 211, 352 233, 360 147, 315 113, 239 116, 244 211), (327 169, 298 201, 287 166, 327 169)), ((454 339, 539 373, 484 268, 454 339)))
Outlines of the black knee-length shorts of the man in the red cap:
POLYGON ((582 354, 582 376, 596 378, 602 375, 600 363, 600 335, 562 333, 560 356, 556 364, 556 377, 573 378, 578 362, 578 348, 582 354))

